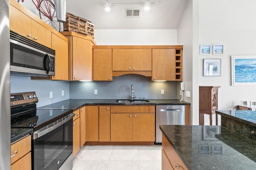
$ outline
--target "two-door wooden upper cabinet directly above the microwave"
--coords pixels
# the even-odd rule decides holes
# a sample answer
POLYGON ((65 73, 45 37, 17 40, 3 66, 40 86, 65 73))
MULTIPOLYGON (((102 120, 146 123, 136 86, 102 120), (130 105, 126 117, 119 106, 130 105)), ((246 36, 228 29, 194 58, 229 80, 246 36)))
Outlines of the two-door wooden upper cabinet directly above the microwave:
MULTIPOLYGON (((12 2, 16 3, 16 2, 12 2)), ((51 31, 10 4, 10 30, 51 48, 51 31)))

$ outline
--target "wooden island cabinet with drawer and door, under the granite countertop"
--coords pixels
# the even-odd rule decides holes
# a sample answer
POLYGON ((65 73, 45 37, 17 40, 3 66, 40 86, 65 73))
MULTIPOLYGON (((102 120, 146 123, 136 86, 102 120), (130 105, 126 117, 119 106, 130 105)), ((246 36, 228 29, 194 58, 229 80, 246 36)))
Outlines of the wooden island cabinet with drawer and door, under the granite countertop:
POLYGON ((164 135, 162 135, 162 155, 163 152, 166 157, 162 156, 162 170, 188 170, 184 162, 180 159, 180 157, 164 135), (165 159, 168 159, 170 164, 167 164, 167 160, 165 159))

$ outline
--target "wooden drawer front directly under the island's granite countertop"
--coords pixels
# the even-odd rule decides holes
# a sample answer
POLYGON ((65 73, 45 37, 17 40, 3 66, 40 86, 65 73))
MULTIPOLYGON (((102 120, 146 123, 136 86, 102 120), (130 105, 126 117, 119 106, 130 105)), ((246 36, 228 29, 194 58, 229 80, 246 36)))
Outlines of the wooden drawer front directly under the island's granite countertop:
POLYGON ((164 135, 162 135, 162 147, 174 169, 179 166, 179 170, 188 170, 164 135))

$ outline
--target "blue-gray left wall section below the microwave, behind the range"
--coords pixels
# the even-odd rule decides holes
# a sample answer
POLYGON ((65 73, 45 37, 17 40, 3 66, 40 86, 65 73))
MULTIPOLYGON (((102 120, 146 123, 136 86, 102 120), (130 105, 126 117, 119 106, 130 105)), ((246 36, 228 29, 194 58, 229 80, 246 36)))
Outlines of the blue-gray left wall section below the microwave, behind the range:
POLYGON ((69 99, 69 82, 54 80, 30 80, 30 77, 11 76, 11 93, 36 92, 37 107, 69 99), (62 96, 64 90, 64 96, 62 96), (50 98, 52 92, 52 98, 50 98))

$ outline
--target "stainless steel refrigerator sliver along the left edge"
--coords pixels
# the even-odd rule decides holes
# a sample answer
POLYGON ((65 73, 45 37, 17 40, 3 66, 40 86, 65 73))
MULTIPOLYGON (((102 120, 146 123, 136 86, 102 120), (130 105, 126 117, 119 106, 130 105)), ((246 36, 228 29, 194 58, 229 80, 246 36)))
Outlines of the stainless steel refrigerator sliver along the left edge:
POLYGON ((0 2, 0 170, 11 169, 9 0, 0 2))

